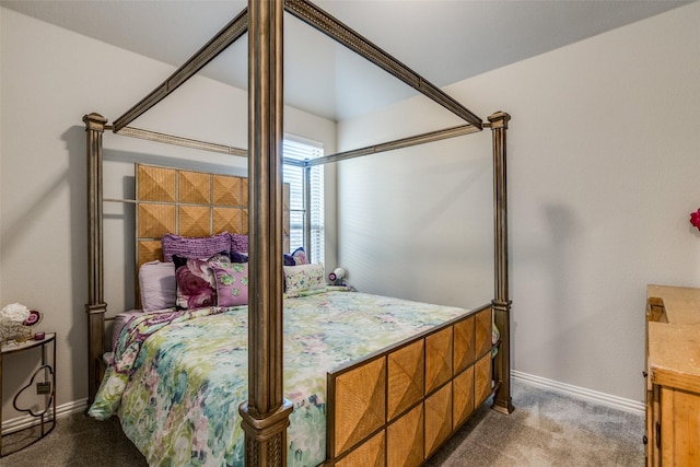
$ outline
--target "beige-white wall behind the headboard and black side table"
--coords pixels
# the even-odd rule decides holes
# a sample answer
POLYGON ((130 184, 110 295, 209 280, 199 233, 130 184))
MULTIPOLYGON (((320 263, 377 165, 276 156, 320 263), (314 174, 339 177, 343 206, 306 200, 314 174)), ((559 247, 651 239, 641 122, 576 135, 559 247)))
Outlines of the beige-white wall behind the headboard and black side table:
MULTIPOLYGON (((21 302, 45 313, 40 328, 58 335, 57 401, 70 405, 88 396, 86 162, 81 119, 97 112, 114 120, 174 69, 4 8, 0 16, 0 304, 21 302)), ((199 78, 133 126, 245 148, 246 98, 238 90, 199 78), (189 119, 170 114, 180 105, 187 105, 189 119)), ((287 108, 284 129, 335 151, 332 121, 287 108)), ((231 156, 109 132, 104 140, 110 174, 105 197, 129 196, 135 161, 195 168, 187 159, 201 156, 202 168, 240 172, 244 166, 231 156)), ((105 207, 105 297, 112 313, 128 305, 130 295, 122 285, 132 283, 125 272, 125 262, 133 257, 125 242, 128 246, 132 233, 127 233, 122 209, 105 207)), ((5 360, 5 421, 16 417, 10 410, 12 395, 24 384, 22 370, 34 360, 5 360)))

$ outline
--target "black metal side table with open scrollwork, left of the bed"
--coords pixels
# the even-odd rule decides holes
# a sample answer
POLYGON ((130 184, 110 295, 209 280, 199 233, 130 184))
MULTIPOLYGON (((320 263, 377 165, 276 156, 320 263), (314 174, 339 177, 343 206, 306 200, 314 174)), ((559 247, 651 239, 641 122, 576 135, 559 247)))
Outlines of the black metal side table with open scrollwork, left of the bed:
MULTIPOLYGON (((42 365, 34 371, 30 383, 21 388, 18 394, 14 395, 14 399, 12 400, 12 405, 15 410, 20 412, 25 412, 30 417, 34 418, 35 421, 38 419, 38 428, 39 432, 37 435, 33 436, 21 436, 16 433, 24 432, 25 430, 35 429, 37 423, 33 422, 30 427, 18 430, 13 433, 2 433, 0 436, 0 457, 7 456, 8 454, 12 454, 20 450, 23 450, 54 430, 56 427, 56 334, 47 332, 45 334, 44 339, 42 340, 25 340, 20 343, 9 343, 4 345, 0 348, 0 421, 2 420, 2 361, 4 360, 4 355, 10 353, 18 353, 28 351, 30 349, 40 349, 42 351, 42 365), (49 358, 50 350, 50 358, 49 358), (25 390, 32 390, 32 386, 36 387, 36 395, 43 396, 40 397, 44 401, 38 409, 36 407, 30 408, 21 408, 18 407, 18 399, 20 395, 25 390), (9 452, 5 452, 3 448, 2 439, 9 435, 13 437, 18 437, 16 446, 13 446, 9 452)), ((15 444, 15 443, 12 443, 15 444)))

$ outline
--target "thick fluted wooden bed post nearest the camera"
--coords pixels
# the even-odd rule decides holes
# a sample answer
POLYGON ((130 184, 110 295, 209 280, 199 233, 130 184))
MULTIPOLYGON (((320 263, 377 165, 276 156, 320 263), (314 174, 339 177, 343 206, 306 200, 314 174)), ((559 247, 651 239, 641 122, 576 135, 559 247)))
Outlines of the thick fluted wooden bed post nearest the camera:
POLYGON ((287 465, 282 387, 283 0, 248 1, 248 400, 246 466, 287 465))

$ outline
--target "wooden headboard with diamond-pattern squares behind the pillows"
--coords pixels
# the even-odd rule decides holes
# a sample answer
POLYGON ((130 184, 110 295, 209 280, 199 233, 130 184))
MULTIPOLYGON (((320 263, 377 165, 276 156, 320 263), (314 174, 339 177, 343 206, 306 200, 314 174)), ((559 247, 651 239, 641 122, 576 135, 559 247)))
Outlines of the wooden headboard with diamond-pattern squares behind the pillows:
MULTIPOLYGON (((289 184, 284 185, 284 252, 289 252, 289 184)), ((163 260, 166 233, 202 237, 248 233, 248 179, 234 175, 136 165, 136 267, 163 260)))

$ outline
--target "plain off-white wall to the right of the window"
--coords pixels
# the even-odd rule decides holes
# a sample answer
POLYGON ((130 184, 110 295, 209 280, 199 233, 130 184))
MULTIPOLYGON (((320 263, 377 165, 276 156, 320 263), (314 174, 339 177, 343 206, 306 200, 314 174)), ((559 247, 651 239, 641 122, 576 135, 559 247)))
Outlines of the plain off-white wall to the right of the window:
MULTIPOLYGON (((485 119, 513 117, 514 370, 643 400, 645 285, 700 285, 699 24, 696 2, 450 86, 485 119)), ((425 131, 427 112, 411 101, 345 121, 339 149, 400 136, 397 121, 425 131)), ((489 138, 339 164, 339 259, 355 287, 490 300, 489 138)))

